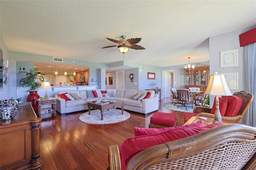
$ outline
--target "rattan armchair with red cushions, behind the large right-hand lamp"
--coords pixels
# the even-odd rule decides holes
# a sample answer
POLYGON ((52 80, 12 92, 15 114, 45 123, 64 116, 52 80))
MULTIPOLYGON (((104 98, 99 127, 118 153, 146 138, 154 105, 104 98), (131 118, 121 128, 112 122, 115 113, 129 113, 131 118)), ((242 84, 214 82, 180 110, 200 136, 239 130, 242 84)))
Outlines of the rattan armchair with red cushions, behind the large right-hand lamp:
MULTIPOLYGON (((232 101, 233 99, 228 100, 228 107, 231 107, 227 109, 225 115, 222 116, 222 119, 231 122, 240 122, 249 105, 252 103, 253 95, 247 91, 239 91, 233 95, 242 99, 242 106, 240 107, 239 111, 237 109, 234 110, 234 107, 237 107, 237 105, 234 103, 234 101, 232 101), (231 102, 229 103, 229 101, 231 102), (236 115, 233 115, 234 112, 236 112, 236 115)), ((223 98, 225 99, 231 97, 223 96, 223 98)), ((188 121, 188 119, 190 119, 192 116, 214 117, 214 112, 212 111, 212 108, 197 106, 194 108, 193 113, 185 113, 184 122, 188 121)))

